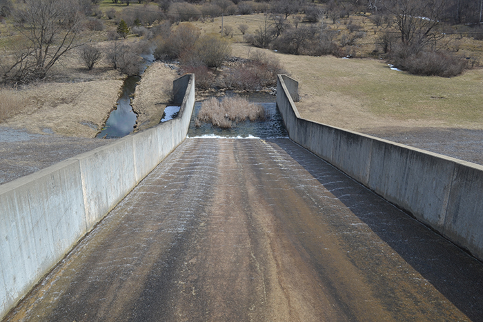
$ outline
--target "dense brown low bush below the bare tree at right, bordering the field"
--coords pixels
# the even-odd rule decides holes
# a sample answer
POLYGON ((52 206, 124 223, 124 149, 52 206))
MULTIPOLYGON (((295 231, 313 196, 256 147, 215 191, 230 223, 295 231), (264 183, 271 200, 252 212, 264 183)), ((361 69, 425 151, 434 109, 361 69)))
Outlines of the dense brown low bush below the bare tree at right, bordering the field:
POLYGON ((407 46, 397 46, 391 52, 391 62, 400 70, 422 76, 454 77, 461 74, 467 62, 449 52, 413 52, 407 46))

